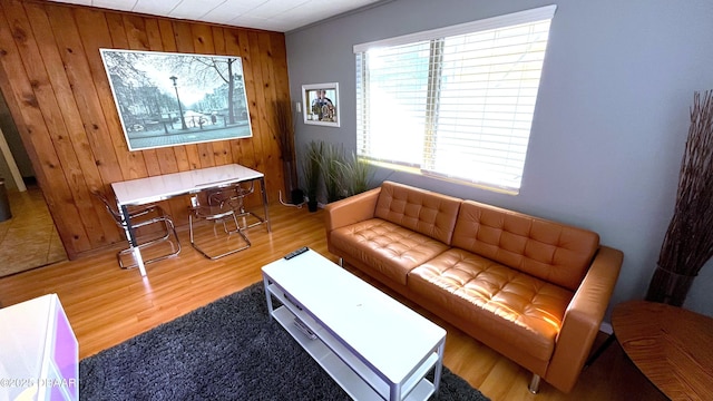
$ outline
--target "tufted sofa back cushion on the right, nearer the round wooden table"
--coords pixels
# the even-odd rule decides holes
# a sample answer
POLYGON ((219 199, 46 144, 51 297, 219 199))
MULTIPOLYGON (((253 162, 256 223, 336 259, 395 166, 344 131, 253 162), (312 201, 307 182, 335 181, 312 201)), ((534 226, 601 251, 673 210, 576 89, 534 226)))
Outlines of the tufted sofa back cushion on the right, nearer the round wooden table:
POLYGON ((452 246, 576 291, 599 246, 598 234, 465 200, 452 246))

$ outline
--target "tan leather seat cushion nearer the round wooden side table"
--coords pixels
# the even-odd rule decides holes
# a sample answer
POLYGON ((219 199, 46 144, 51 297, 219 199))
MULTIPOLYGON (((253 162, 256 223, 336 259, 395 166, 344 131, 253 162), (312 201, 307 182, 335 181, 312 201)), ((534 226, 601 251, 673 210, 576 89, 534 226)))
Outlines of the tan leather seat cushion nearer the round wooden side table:
POLYGON ((551 358, 572 291, 451 248, 409 273, 409 287, 541 361, 551 358))

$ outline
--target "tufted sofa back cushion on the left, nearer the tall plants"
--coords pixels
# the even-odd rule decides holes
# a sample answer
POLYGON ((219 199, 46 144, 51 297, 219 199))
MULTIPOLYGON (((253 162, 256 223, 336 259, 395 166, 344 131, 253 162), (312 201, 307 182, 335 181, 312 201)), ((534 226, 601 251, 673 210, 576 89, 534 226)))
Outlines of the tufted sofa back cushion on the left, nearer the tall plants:
POLYGON ((450 245, 461 202, 430 190, 384 182, 374 217, 450 245))

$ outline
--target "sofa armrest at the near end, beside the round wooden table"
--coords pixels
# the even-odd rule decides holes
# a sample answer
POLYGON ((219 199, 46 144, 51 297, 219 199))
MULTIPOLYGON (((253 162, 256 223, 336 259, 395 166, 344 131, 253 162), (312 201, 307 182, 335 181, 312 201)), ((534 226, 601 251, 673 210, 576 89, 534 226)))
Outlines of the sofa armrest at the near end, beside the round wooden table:
POLYGON ((592 344, 619 276, 624 253, 600 246, 582 285, 572 299, 557 335, 545 380, 569 392, 589 355, 592 344))

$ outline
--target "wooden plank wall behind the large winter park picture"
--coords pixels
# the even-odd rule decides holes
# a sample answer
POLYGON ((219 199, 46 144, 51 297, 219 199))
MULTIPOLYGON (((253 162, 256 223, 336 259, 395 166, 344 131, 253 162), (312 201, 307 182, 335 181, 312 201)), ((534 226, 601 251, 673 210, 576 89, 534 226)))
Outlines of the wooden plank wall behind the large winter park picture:
MULTIPOLYGON (((289 100, 284 35, 36 0, 0 2, 0 89, 70 258, 124 241, 91 192, 240 163, 284 193, 273 101, 289 100), (240 56, 253 137, 129 151, 99 48, 240 56)), ((258 203, 253 195, 248 204, 258 203)), ((187 224, 185 197, 164 202, 187 224)))

